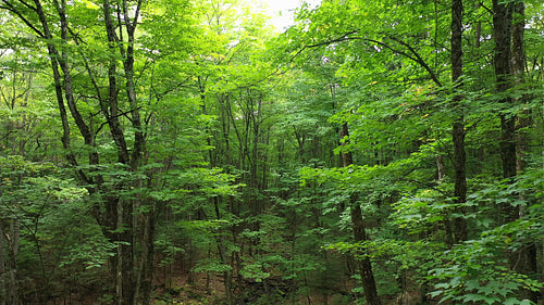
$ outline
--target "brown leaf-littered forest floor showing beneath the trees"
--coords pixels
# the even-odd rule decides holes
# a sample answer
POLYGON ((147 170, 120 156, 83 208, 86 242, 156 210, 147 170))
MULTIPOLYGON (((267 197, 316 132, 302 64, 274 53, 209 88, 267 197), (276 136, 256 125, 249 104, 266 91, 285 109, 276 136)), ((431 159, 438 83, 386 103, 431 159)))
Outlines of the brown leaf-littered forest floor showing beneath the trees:
MULTIPOLYGON (((153 305, 224 305, 226 302, 224 279, 221 276, 205 272, 191 272, 190 267, 184 266, 183 259, 169 266, 157 266, 153 279, 151 304, 153 305)), ((159 265, 159 264, 158 264, 159 265)), ((234 281, 234 279, 233 279, 234 281)), ((234 304, 280 304, 280 305, 355 305, 360 304, 362 295, 355 297, 351 289, 355 282, 336 283, 334 287, 314 287, 299 289, 297 283, 282 279, 268 279, 268 285, 262 282, 240 280, 242 284, 234 289, 234 304), (341 290, 338 289, 342 288, 341 290), (359 302, 356 300, 359 298, 359 302)), ((384 305, 417 304, 418 293, 415 291, 401 295, 384 295, 384 305)), ((40 305, 108 305, 111 300, 101 295, 100 289, 95 287, 87 293, 63 295, 40 305), (89 293, 96 291, 96 293, 89 293)), ((35 303, 38 304, 38 303, 35 303)))

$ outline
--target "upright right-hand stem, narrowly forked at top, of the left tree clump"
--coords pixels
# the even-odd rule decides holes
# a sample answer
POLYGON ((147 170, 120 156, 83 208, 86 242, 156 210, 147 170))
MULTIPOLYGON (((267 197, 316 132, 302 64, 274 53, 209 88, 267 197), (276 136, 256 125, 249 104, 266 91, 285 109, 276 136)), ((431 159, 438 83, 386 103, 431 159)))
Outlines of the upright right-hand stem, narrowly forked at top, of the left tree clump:
MULTIPOLYGON (((134 36, 139 16, 139 9, 141 7, 143 0, 138 0, 135 3, 135 7, 129 8, 128 2, 126 0, 120 1, 116 5, 116 21, 119 24, 114 24, 112 21, 113 13, 111 11, 110 1, 104 0, 103 13, 104 13, 104 25, 108 34, 108 42, 110 50, 113 52, 119 48, 119 53, 122 56, 123 67, 124 67, 124 79, 126 96, 128 99, 128 104, 131 106, 131 123, 134 129, 134 144, 131 152, 127 149, 127 143, 125 140, 124 131, 121 128, 119 123, 119 97, 118 97, 118 80, 116 78, 116 63, 115 60, 110 62, 109 66, 109 100, 106 107, 109 107, 108 115, 108 124, 110 126, 110 130, 112 134, 112 138, 118 147, 118 156, 119 161, 123 164, 129 165, 132 171, 138 169, 140 164, 145 162, 145 153, 146 153, 146 139, 144 129, 141 126, 141 117, 139 114, 139 109, 137 106, 136 99, 136 84, 134 80, 134 36), (132 14, 132 16, 131 16, 132 14), (119 36, 115 33, 115 29, 119 28, 119 36), (124 38, 126 35, 126 41, 124 38), (125 42, 125 43, 120 43, 125 42)), ((136 182, 137 183, 137 182, 136 182)), ((116 188, 126 187, 124 183, 121 183, 116 188)), ((120 200, 118 201, 118 219, 115 227, 123 228, 121 232, 116 234, 116 240, 122 244, 120 245, 120 252, 118 259, 118 266, 120 268, 121 275, 118 272, 116 277, 116 300, 122 304, 135 304, 138 302, 139 294, 149 295, 151 285, 145 284, 141 287, 144 282, 148 283, 151 280, 151 271, 141 270, 137 268, 136 265, 140 265, 144 269, 152 266, 149 260, 152 260, 153 257, 149 255, 152 253, 152 244, 148 244, 149 241, 153 240, 152 231, 147 228, 143 228, 144 234, 135 234, 137 228, 135 228, 135 214, 134 211, 139 206, 139 200, 120 200), (151 234, 151 236, 147 236, 151 234), (136 245, 139 243, 143 251, 138 252, 140 257, 136 256, 136 245), (143 262, 148 260, 148 262, 143 262), (136 264, 136 262, 141 262, 140 264, 136 264), (139 272, 139 276, 136 274, 139 272), (141 276, 148 277, 141 279, 141 276), (139 280, 138 280, 139 278, 139 280), (138 288, 136 288, 138 285, 138 288)), ((145 226, 148 226, 148 217, 149 215, 137 215, 139 218, 144 219, 145 226)))

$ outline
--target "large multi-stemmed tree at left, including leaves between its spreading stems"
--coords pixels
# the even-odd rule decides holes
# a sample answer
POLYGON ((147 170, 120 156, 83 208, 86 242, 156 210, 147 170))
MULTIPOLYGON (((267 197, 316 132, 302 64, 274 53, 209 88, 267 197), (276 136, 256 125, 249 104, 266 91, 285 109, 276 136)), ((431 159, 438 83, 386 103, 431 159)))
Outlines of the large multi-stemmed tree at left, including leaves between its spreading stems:
MULTIPOLYGON (((94 209, 97 221, 103 228, 103 234, 112 242, 118 243, 118 253, 110 259, 112 279, 115 280, 115 303, 133 304, 137 300, 144 303, 149 302, 151 271, 148 269, 152 265, 152 208, 140 213, 141 223, 133 223, 135 211, 141 211, 144 206, 141 196, 126 196, 124 190, 138 188, 141 182, 137 180, 123 179, 123 177, 136 177, 138 168, 146 161, 146 138, 144 122, 140 116, 140 102, 137 99, 137 87, 135 80, 135 33, 139 22, 143 1, 128 3, 122 1, 111 3, 106 0, 102 5, 102 21, 106 28, 106 62, 108 63, 107 89, 102 89, 101 75, 98 74, 92 53, 84 53, 88 42, 82 34, 86 27, 81 27, 82 33, 74 31, 76 24, 73 22, 86 22, 88 18, 95 18, 98 15, 98 7, 94 3, 75 3, 75 7, 67 5, 66 1, 51 1, 44 3, 36 0, 32 4, 26 2, 3 1, 3 9, 8 10, 14 16, 17 16, 26 24, 47 47, 50 59, 51 71, 58 101, 60 120, 62 123, 63 148, 66 152, 66 158, 82 185, 85 185, 89 192, 103 200, 96 204, 94 209), (114 10, 114 11, 112 11, 114 10), (59 27, 53 26, 59 24, 59 27), (119 35, 116 28, 122 29, 119 35), (81 52, 81 53, 78 53, 81 52), (118 68, 118 61, 121 61, 122 72, 118 68), (77 64, 84 67, 87 73, 87 81, 91 88, 91 99, 97 101, 94 104, 97 113, 101 116, 102 125, 107 125, 113 144, 116 150, 116 171, 106 174, 103 170, 98 173, 103 158, 97 150, 97 135, 101 128, 96 130, 94 111, 86 110, 77 102, 76 97, 87 96, 76 89, 74 84, 79 81, 78 77, 73 76, 73 67, 77 64), (125 94, 120 96, 120 89, 125 90, 125 94), (126 99, 126 102, 121 102, 126 99), (67 106, 67 110, 66 110, 67 106), (126 107, 124 111, 122 109, 126 107), (70 112, 70 118, 69 118, 70 112), (86 120, 85 116, 90 119, 86 120), (123 126, 122 117, 126 116, 128 126, 123 126), (87 158, 89 170, 81 167, 81 161, 74 153, 74 143, 72 140, 72 130, 70 119, 73 119, 79 136, 87 148, 87 158), (131 141, 128 136, 133 137, 131 141), (132 145, 132 149, 128 148, 132 145), (132 174, 129 174, 132 173, 132 174), (106 175, 104 175, 106 174, 106 175), (109 177, 108 177, 109 176, 109 177), (120 179, 121 178, 121 179, 120 179), (116 179, 119 183, 114 183, 116 179), (113 182, 113 183, 112 183, 113 182), (102 206, 100 206, 102 205, 102 206), (136 228, 141 227, 141 238, 137 238, 136 228), (135 252, 136 244, 133 240, 140 242, 141 252, 135 252), (138 262, 133 257, 133 253, 141 255, 145 263, 138 262), (139 272, 139 274, 138 274, 139 272), (139 291, 139 288, 143 291, 139 291)), ((103 38, 104 36, 102 36, 103 38)), ((99 38, 100 39, 100 38, 99 38)), ((98 40, 100 41, 100 40, 98 40)), ((103 41, 103 40, 102 40, 103 41)), ((104 45, 96 45, 101 48, 104 45)), ((103 59, 102 59, 103 60, 103 59)), ((101 122, 100 122, 101 123, 101 122)), ((113 169, 114 167, 112 167, 113 169)))

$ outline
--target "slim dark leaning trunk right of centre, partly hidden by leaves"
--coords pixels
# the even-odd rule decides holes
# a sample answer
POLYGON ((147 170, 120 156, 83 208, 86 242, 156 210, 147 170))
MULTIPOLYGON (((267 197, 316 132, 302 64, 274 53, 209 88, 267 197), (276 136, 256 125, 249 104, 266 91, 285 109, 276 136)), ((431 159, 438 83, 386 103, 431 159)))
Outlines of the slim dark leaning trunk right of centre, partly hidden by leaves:
MULTIPOLYGON (((341 139, 349 137, 349 129, 347 123, 342 125, 341 139)), ((342 145, 346 145, 348 138, 344 139, 342 145)), ((344 167, 348 167, 354 164, 354 156, 351 152, 342 152, 342 157, 344 161, 344 167)), ((364 243, 369 240, 367 236, 367 229, 362 220, 361 205, 359 204, 356 194, 350 196, 350 216, 351 216, 351 229, 354 231, 354 241, 356 243, 364 243)), ((372 263, 370 257, 367 255, 363 245, 361 250, 356 253, 356 255, 361 255, 362 257, 356 258, 357 267, 359 268, 359 275, 361 277, 362 288, 364 290, 364 298, 369 305, 381 305, 380 297, 378 295, 378 289, 375 287, 374 272, 372 271, 372 263)))

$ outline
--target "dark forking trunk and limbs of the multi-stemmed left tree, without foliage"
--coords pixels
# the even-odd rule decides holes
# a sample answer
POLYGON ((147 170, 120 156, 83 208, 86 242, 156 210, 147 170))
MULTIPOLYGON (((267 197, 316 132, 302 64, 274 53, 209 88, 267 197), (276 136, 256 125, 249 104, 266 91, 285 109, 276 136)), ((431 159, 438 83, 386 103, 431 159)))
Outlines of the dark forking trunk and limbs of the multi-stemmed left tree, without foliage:
MULTIPOLYGON (((71 63, 73 59, 69 56, 70 52, 67 52, 67 49, 64 47, 70 43, 70 39, 73 39, 77 46, 79 46, 82 40, 79 37, 69 37, 69 16, 66 14, 66 8, 69 5, 67 1, 52 0, 52 2, 49 3, 52 5, 53 11, 57 12, 57 20, 53 20, 55 17, 53 14, 46 13, 47 10, 44 10, 41 3, 42 1, 40 0, 20 2, 29 10, 18 11, 18 9, 15 5, 10 4, 9 1, 3 1, 3 3, 7 4, 4 9, 12 11, 14 15, 17 15, 21 20, 23 20, 23 22, 32 30, 34 30, 39 38, 46 39, 49 60, 53 73, 58 109, 63 128, 62 144, 66 151, 66 160, 70 165, 75 168, 75 173, 79 178, 81 183, 86 186, 89 192, 92 193, 103 191, 104 193, 108 193, 113 191, 113 193, 115 193, 107 195, 103 208, 97 204, 97 207, 94 208, 94 214, 100 226, 102 226, 104 236, 107 236, 112 242, 119 242, 119 256, 110 259, 112 280, 113 282, 118 281, 115 289, 115 291, 118 291, 118 295, 115 297, 116 303, 132 305, 135 302, 136 292, 139 291, 135 289, 135 272, 138 269, 135 264, 135 262, 138 262, 135 259, 135 245, 139 243, 143 249, 146 249, 147 254, 139 252, 139 254, 143 255, 140 258, 147 259, 148 262, 144 265, 151 268, 153 230, 147 230, 147 234, 137 236, 134 233, 137 229, 133 226, 135 217, 133 212, 135 207, 138 206, 139 202, 138 200, 122 200, 119 194, 116 194, 120 190, 132 187, 132 182, 118 182, 113 183, 113 187, 104 187, 102 183, 102 176, 94 175, 94 177, 91 177, 91 175, 86 175, 83 169, 76 168, 78 166, 78 162, 75 154, 71 152, 69 113, 71 118, 74 120, 79 135, 83 137, 85 144, 91 148, 88 151, 89 164, 98 165, 99 155, 96 150, 92 150, 95 147, 96 136, 94 134, 92 125, 85 122, 81 114, 81 109, 78 109, 78 105, 76 104, 76 99, 74 98, 71 75, 71 63), (32 4, 34 4, 34 7, 32 7, 32 4), (27 14, 30 14, 30 17, 28 17, 27 14), (32 24, 30 21, 35 21, 36 18, 37 25, 32 24), (53 24, 54 26, 52 26, 53 24), (60 37, 53 35, 57 30, 60 33, 60 37), (61 47, 58 47, 55 43, 60 43, 61 47)), ((120 74, 116 67, 119 58, 115 58, 107 63, 109 81, 107 98, 102 97, 102 89, 98 86, 98 81, 92 75, 90 65, 88 65, 88 61, 84 58, 85 67, 89 73, 90 82, 97 91, 96 94, 100 106, 100 111, 98 113, 106 119, 113 142, 118 149, 118 162, 128 165, 132 171, 136 171, 141 163, 145 162, 144 156, 146 152, 146 139, 141 126, 139 107, 137 105, 136 82, 134 80, 134 37, 141 3, 143 0, 122 0, 115 1, 112 5, 109 0, 103 1, 103 22, 110 51, 121 55, 124 67, 124 75, 120 74), (112 10, 115 9, 116 12, 112 12, 112 10), (113 20, 115 18, 116 24, 113 23, 113 20), (115 33, 116 29, 119 29, 119 37, 115 33), (118 79, 123 77, 126 86, 124 89, 126 90, 129 104, 129 111, 127 113, 131 117, 128 120, 132 123, 134 130, 134 144, 131 150, 127 148, 125 130, 120 122, 121 115, 119 109, 118 79)), ((92 115, 90 118, 92 120, 92 115)), ((113 177, 113 179, 115 179, 115 177, 113 177)), ((144 218, 145 217, 152 216, 144 215, 144 218)), ((152 226, 152 224, 150 226, 152 226)), ((15 272, 16 268, 13 268, 12 270, 15 272)), ((140 279, 140 283, 149 283, 151 280, 151 270, 144 272, 144 276, 147 278, 140 279)), ((145 284, 145 289, 149 291, 143 291, 143 295, 149 295, 151 285, 145 284)))

